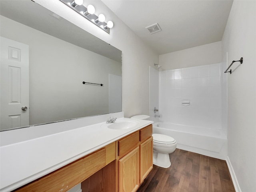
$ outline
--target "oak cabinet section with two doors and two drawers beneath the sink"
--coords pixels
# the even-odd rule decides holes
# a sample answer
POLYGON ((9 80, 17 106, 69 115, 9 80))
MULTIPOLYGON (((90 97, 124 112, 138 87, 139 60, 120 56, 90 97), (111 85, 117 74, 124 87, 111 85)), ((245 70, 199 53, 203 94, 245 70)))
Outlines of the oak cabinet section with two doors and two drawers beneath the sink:
POLYGON ((135 192, 152 168, 152 125, 118 140, 118 192, 135 192))

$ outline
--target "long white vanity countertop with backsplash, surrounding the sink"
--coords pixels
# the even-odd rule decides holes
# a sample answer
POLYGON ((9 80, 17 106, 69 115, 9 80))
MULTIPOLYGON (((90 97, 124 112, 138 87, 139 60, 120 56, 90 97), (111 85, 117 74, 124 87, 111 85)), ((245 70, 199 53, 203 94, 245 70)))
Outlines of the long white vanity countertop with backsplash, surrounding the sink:
MULTIPOLYGON (((117 121, 122 119, 130 120, 117 121)), ((136 121, 137 126, 120 130, 101 126, 106 122, 83 126, 78 119, 0 132, 1 192, 23 186, 153 123, 136 121)))

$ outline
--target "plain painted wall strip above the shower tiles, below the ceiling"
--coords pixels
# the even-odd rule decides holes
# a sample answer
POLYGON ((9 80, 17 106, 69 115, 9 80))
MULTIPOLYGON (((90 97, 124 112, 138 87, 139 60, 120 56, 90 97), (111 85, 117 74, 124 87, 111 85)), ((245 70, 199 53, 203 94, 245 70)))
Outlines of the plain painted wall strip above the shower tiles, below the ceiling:
POLYGON ((221 62, 221 42, 210 43, 159 56, 163 70, 208 65, 221 62))

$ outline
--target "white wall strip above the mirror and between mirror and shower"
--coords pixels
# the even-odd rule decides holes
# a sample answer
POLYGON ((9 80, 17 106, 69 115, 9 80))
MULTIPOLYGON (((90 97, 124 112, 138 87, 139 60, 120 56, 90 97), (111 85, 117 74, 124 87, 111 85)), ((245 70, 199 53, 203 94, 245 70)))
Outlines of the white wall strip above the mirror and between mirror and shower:
POLYGON ((110 34, 101 30, 60 1, 36 0, 42 6, 76 24, 94 36, 122 51, 122 110, 125 117, 137 114, 149 115, 149 67, 158 63, 158 54, 146 46, 122 20, 101 1, 85 1, 92 4, 96 15, 105 14, 114 27, 110 34))

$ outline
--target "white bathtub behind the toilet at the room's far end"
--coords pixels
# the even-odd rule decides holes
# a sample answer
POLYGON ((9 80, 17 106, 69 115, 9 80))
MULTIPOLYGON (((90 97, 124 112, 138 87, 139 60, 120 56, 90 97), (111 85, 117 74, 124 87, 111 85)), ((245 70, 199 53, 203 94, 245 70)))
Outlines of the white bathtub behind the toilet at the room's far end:
POLYGON ((158 122, 153 133, 173 137, 177 148, 226 160, 227 137, 223 130, 158 122))

